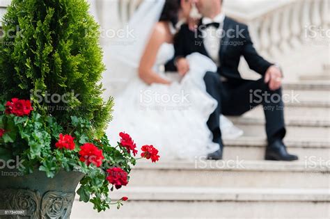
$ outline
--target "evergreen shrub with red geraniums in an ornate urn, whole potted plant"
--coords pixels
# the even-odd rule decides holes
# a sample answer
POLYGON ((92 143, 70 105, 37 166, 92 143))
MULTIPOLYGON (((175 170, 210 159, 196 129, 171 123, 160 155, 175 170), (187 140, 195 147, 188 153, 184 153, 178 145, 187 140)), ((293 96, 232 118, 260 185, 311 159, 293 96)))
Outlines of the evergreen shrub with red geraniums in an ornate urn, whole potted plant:
MULTIPOLYGON (((75 190, 105 211, 138 153, 127 133, 109 144, 112 99, 102 99, 99 26, 85 0, 13 0, 0 44, 0 209, 69 218, 75 190)), ((156 162, 144 145, 141 157, 156 162)))

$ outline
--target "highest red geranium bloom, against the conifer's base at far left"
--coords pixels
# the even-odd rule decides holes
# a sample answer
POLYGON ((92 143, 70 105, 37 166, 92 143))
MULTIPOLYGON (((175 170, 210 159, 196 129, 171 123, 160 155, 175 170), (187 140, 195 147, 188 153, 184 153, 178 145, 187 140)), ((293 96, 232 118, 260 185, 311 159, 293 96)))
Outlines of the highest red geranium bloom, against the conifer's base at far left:
POLYGON ((16 116, 30 115, 33 108, 29 100, 13 98, 12 102, 6 104, 6 114, 14 114, 16 116))

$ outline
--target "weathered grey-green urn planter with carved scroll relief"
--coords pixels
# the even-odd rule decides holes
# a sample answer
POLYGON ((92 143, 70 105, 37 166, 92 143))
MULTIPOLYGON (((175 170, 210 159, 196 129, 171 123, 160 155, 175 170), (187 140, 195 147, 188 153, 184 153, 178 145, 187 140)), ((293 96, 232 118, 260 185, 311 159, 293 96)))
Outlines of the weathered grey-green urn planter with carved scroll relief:
POLYGON ((0 218, 70 218, 81 172, 61 171, 53 178, 36 170, 22 175, 18 170, 0 170, 0 218), (24 211, 25 215, 21 215, 24 211))

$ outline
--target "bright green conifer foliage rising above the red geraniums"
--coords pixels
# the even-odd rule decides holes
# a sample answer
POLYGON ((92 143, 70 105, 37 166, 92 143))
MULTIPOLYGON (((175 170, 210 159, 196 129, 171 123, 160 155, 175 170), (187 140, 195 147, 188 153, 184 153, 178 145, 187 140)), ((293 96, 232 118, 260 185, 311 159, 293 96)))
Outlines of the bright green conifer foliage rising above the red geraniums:
POLYGON ((70 116, 84 117, 100 135, 112 99, 101 97, 99 25, 88 8, 86 0, 12 1, 2 24, 0 98, 31 98, 35 111, 62 127, 70 116))

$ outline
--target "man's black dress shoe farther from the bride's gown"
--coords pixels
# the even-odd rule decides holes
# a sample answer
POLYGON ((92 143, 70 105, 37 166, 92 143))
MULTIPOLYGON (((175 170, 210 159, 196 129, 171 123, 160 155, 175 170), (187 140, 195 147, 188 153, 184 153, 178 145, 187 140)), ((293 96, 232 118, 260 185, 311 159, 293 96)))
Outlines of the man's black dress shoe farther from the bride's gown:
POLYGON ((282 140, 276 140, 266 149, 265 160, 267 161, 297 161, 298 156, 289 154, 282 140))

